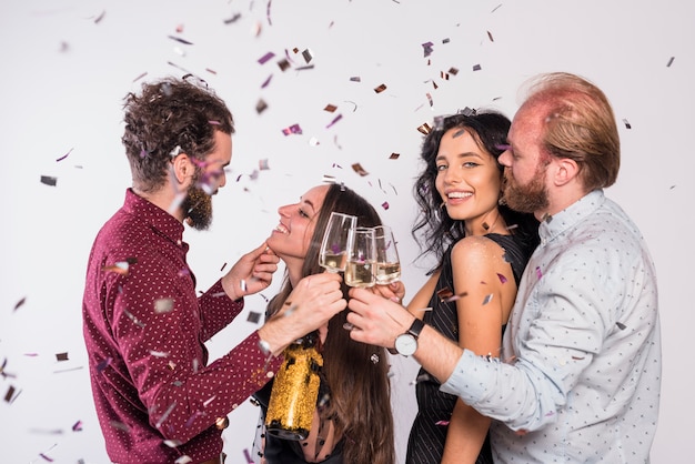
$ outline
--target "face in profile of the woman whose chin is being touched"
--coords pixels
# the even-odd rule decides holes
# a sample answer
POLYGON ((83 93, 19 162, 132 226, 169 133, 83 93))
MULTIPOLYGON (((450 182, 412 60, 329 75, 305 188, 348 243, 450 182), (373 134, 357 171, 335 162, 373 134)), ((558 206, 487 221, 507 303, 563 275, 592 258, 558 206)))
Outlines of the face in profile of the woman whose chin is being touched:
POLYGON ((268 238, 268 246, 288 266, 301 269, 328 190, 329 185, 314 186, 298 203, 278 209, 280 223, 268 238))

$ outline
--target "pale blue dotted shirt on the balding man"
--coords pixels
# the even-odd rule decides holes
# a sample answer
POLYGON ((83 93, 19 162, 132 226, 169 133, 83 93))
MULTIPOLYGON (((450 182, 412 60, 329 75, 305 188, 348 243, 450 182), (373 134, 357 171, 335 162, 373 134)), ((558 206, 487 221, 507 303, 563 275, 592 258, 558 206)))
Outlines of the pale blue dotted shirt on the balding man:
POLYGON ((441 390, 496 420, 495 462, 648 463, 662 360, 642 235, 602 190, 540 235, 500 359, 465 351, 441 390))

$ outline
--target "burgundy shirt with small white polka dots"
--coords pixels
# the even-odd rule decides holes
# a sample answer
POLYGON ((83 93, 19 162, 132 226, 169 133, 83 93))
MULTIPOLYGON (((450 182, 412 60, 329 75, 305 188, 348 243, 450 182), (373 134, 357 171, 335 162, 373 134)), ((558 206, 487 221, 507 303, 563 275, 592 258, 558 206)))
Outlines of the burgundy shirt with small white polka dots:
POLYGON ((208 363, 203 343, 243 309, 218 281, 197 296, 183 225, 130 189, 99 232, 87 270, 83 331, 109 457, 200 463, 222 451, 218 417, 263 386, 281 360, 254 332, 208 363))

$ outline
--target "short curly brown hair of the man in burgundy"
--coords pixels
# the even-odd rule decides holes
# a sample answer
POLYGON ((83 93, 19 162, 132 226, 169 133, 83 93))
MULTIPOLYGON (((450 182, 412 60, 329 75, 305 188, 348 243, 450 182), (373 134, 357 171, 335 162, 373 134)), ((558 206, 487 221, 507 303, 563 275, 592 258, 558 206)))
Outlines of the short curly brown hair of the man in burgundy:
POLYGON ((164 184, 177 147, 202 161, 215 148, 215 131, 234 133, 226 104, 190 74, 145 82, 140 95, 130 92, 123 100, 125 129, 121 141, 133 185, 144 192, 164 184))

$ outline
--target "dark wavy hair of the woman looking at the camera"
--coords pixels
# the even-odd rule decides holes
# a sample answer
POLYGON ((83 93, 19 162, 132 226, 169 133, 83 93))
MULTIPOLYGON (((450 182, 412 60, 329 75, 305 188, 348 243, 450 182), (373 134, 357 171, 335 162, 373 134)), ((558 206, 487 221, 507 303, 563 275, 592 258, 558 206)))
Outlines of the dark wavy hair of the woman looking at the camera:
MULTIPOLYGON (((436 157, 442 137, 454 128, 469 129, 479 147, 498 159, 505 150, 510 127, 511 121, 498 112, 467 110, 435 121, 434 129, 425 135, 421 148, 425 167, 413 188, 420 213, 412 234, 420 244, 421 256, 433 254, 437 259, 436 266, 430 273, 440 268, 446 248, 465 236, 464 222, 452 219, 446 209, 441 208, 442 198, 435 186, 436 157)), ((502 178, 504 167, 497 167, 502 178)), ((532 244, 537 243, 537 221, 532 214, 513 211, 506 205, 500 205, 498 209, 507 226, 514 226, 514 234, 532 244)))

